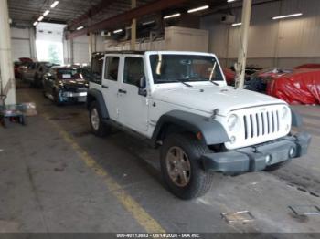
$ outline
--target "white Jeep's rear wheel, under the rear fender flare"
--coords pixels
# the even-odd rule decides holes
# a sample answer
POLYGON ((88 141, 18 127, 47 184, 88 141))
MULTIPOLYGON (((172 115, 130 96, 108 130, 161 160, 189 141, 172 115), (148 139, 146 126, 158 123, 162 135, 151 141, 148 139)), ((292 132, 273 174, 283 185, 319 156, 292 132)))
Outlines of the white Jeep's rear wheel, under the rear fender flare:
POLYGON ((105 123, 103 123, 101 117, 101 109, 96 101, 93 101, 90 105, 89 120, 91 130, 96 136, 104 137, 109 133, 110 128, 105 123))

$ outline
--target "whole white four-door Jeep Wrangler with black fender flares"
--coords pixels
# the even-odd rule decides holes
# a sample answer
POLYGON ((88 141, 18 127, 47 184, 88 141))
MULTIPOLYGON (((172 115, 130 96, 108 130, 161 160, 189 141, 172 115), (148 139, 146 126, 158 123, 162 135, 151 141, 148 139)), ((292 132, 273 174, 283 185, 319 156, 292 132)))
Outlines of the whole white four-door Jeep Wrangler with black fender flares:
POLYGON ((228 87, 217 57, 178 51, 94 53, 87 97, 92 131, 111 125, 161 146, 169 190, 208 192, 212 171, 274 170, 304 155, 310 136, 280 99, 228 87))

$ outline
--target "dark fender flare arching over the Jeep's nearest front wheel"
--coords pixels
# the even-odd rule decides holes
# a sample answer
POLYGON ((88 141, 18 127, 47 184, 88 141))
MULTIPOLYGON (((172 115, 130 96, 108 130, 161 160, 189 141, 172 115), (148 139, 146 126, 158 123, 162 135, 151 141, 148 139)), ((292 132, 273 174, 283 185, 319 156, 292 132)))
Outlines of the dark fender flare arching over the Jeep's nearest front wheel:
POLYGON ((156 122, 152 136, 154 145, 156 145, 156 141, 161 137, 162 130, 167 124, 177 125, 196 135, 200 132, 201 140, 207 145, 215 145, 229 141, 228 133, 217 120, 182 110, 172 110, 161 116, 156 122))

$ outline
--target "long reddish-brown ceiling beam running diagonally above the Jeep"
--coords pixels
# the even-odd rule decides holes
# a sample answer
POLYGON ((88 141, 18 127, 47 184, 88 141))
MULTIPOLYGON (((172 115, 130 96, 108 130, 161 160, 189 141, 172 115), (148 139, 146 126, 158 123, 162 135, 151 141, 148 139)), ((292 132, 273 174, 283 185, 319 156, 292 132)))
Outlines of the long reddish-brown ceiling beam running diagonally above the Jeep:
POLYGON ((102 20, 99 23, 95 23, 87 28, 83 28, 79 31, 74 31, 67 35, 67 39, 72 39, 77 36, 85 35, 89 32, 96 32, 100 30, 104 30, 108 27, 116 26, 119 23, 124 23, 131 21, 133 18, 139 18, 140 16, 152 14, 165 8, 169 8, 174 5, 179 5, 187 0, 157 0, 150 4, 142 5, 140 7, 133 8, 132 10, 126 11, 123 14, 112 16, 108 19, 102 20))

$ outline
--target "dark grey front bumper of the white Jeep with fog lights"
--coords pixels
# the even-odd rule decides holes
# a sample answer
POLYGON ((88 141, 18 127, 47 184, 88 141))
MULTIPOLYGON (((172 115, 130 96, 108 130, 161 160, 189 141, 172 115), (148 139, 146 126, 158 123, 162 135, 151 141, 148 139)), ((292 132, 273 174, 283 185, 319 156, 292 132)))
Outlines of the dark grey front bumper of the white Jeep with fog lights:
POLYGON ((302 132, 239 150, 204 154, 201 161, 206 171, 262 171, 273 164, 303 156, 310 141, 311 136, 302 132))

